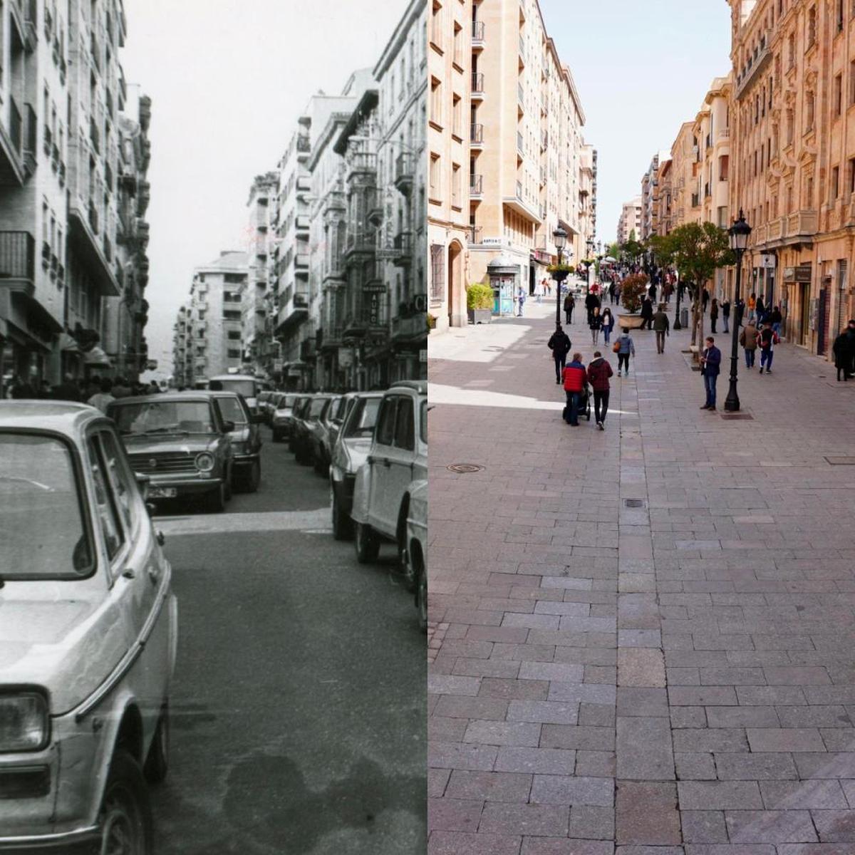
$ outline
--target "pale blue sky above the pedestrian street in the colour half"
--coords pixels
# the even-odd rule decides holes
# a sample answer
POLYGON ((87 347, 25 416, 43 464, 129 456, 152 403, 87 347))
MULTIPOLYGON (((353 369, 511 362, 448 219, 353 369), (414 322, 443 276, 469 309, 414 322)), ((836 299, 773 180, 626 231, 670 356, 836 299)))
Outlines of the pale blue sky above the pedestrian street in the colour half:
POLYGON ((598 152, 597 237, 610 242, 653 156, 728 74, 730 9, 725 0, 540 0, 540 9, 598 152))

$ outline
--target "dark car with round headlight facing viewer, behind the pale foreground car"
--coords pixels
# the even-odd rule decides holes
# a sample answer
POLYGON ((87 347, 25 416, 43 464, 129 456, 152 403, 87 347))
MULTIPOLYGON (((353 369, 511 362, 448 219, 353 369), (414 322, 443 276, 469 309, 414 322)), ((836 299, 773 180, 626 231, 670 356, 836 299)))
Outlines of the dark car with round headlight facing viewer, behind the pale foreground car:
POLYGON ((224 510, 232 498, 234 422, 211 392, 167 392, 109 404, 133 470, 150 477, 149 498, 196 498, 224 510))

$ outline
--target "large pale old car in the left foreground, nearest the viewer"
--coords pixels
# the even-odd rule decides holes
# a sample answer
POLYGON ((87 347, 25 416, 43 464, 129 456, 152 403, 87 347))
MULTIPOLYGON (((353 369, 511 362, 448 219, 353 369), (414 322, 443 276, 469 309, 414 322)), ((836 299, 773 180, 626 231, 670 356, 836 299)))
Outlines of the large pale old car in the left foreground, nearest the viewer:
POLYGON ((0 403, 0 851, 152 852, 178 605, 113 422, 0 403))

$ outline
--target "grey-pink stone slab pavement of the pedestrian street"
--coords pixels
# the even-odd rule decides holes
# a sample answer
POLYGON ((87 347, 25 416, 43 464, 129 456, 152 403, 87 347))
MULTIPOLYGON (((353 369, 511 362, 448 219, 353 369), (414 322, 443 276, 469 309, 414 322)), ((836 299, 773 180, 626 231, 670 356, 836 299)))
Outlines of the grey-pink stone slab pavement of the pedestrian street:
POLYGON ((635 333, 570 428, 527 310, 429 343, 429 851, 852 855, 855 383, 781 345, 725 420, 635 333))

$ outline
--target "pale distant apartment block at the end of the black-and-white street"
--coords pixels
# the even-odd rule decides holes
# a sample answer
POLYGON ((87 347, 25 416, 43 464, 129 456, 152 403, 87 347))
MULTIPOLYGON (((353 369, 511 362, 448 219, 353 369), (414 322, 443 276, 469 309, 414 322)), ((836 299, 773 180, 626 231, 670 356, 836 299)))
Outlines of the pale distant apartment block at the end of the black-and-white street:
POLYGON ((193 271, 190 297, 174 324, 176 386, 239 370, 243 363, 243 294, 252 255, 222 251, 193 271))

